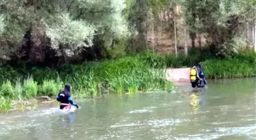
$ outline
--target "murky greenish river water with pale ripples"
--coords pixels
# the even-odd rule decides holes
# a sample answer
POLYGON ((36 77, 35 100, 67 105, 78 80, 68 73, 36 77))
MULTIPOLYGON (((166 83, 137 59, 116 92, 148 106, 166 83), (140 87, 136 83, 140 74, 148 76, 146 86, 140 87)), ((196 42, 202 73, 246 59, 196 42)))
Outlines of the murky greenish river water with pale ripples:
POLYGON ((255 85, 256 79, 226 79, 210 81, 203 92, 178 86, 171 93, 83 99, 69 115, 57 106, 2 114, 0 139, 255 140, 255 85))

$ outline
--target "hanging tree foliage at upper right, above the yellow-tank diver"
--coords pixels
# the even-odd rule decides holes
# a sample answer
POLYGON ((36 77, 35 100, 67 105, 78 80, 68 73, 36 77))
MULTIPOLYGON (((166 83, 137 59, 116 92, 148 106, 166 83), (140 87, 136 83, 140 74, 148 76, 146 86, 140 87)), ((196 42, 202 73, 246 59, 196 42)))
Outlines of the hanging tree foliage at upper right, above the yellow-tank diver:
POLYGON ((239 36, 242 23, 256 16, 254 0, 187 0, 183 5, 188 30, 206 34, 210 45, 220 50, 239 36))

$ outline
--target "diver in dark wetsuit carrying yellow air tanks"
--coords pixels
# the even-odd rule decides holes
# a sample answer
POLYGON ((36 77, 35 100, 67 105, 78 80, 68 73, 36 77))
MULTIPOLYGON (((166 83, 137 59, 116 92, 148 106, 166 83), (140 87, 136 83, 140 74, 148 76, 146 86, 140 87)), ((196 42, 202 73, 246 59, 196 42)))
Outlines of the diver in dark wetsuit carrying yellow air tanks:
POLYGON ((197 64, 197 66, 194 66, 190 70, 190 83, 192 88, 195 88, 196 86, 198 88, 203 88, 206 86, 206 78, 204 76, 203 70, 202 70, 202 64, 201 62, 197 64))

